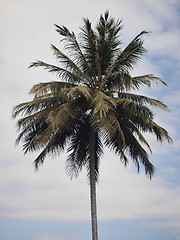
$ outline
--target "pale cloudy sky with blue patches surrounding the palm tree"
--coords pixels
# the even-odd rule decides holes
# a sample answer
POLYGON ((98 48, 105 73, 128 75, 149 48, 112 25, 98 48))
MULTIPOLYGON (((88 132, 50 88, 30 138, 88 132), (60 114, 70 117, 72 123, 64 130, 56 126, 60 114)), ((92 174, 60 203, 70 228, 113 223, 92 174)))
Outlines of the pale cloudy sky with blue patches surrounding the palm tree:
POLYGON ((46 158, 38 172, 33 160, 15 146, 13 106, 31 99, 38 82, 58 80, 42 69, 28 69, 36 59, 54 63, 50 44, 62 47, 54 24, 79 33, 82 18, 95 25, 109 10, 122 19, 122 45, 142 30, 148 52, 132 75, 155 74, 168 86, 142 89, 163 101, 170 112, 155 120, 167 129, 173 144, 147 135, 156 167, 150 181, 133 163, 124 167, 105 149, 97 185, 99 239, 180 240, 180 2, 179 0, 0 0, 0 239, 91 239, 89 186, 86 172, 72 181, 65 172, 66 153, 46 158))

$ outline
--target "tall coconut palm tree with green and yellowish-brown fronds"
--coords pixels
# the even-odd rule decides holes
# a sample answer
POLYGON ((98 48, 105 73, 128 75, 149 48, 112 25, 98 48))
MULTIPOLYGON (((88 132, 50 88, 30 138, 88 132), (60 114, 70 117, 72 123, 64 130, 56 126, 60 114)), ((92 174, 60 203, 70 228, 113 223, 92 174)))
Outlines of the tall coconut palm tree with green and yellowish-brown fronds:
POLYGON ((107 12, 92 29, 89 19, 83 19, 77 39, 65 26, 56 31, 65 43, 65 53, 51 45, 58 65, 35 61, 30 68, 43 67, 60 78, 32 87, 31 101, 14 107, 13 118, 21 115, 17 125, 17 143, 24 142, 25 153, 41 150, 35 167, 48 154, 66 149, 67 174, 77 177, 87 169, 90 185, 92 239, 98 239, 96 213, 96 183, 103 147, 109 147, 127 165, 132 159, 150 178, 154 166, 149 161, 151 148, 143 133, 152 133, 157 140, 171 142, 167 131, 154 121, 151 107, 168 110, 161 101, 133 93, 153 82, 166 85, 152 75, 132 77, 130 71, 146 52, 142 31, 125 49, 121 49, 121 21, 107 12), (144 147, 143 147, 144 145, 144 147))

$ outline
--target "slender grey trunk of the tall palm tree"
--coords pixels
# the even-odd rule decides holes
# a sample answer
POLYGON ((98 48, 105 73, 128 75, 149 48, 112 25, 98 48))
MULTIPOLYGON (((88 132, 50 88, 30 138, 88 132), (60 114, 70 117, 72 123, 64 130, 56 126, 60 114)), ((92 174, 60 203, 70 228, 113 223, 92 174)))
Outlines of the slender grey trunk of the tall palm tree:
POLYGON ((97 207, 96 207, 96 177, 95 177, 95 133, 90 133, 90 199, 92 240, 98 240, 97 207))

